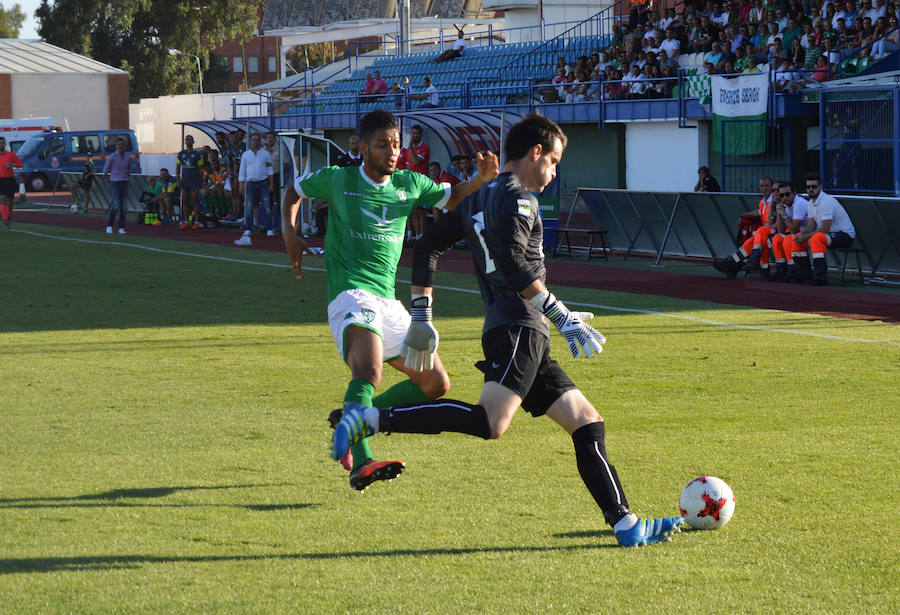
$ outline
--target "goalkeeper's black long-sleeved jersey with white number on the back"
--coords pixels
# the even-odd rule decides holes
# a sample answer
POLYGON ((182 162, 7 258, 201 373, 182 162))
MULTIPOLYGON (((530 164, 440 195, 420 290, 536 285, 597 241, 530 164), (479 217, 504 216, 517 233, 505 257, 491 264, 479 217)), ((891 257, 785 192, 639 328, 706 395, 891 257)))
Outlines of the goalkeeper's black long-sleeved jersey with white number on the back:
POLYGON ((413 284, 432 286, 438 258, 463 238, 487 308, 484 331, 524 325, 549 337, 541 313, 519 295, 547 272, 538 202, 517 176, 501 173, 425 232, 416 242, 413 284))

